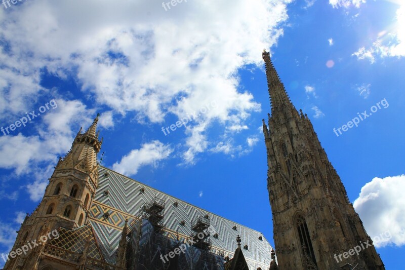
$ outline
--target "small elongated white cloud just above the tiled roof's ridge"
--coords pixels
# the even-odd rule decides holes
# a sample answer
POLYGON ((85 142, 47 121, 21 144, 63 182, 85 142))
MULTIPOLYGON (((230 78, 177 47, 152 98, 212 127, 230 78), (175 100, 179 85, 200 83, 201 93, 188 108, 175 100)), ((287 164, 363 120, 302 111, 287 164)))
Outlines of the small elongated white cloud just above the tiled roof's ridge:
POLYGON ((170 156, 173 149, 170 145, 163 144, 158 140, 142 144, 140 149, 131 150, 121 161, 114 163, 114 171, 125 175, 135 175, 142 166, 156 166, 157 162, 170 156))

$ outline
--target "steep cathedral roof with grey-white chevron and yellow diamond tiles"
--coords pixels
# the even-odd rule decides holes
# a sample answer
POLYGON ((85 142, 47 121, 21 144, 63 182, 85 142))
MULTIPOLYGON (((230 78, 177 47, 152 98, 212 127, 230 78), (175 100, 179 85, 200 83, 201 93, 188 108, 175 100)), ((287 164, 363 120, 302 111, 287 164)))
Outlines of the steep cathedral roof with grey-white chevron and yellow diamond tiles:
POLYGON ((208 215, 211 232, 214 230, 218 234, 218 238, 214 238, 214 234, 211 234, 214 253, 222 253, 224 257, 232 258, 237 248, 236 237, 239 235, 242 247, 248 246, 243 253, 249 268, 269 267, 272 247, 260 232, 174 198, 108 168, 99 166, 98 175, 98 189, 90 210, 90 222, 107 262, 115 263, 125 219, 131 223, 136 219, 143 203, 157 197, 166 201, 164 223, 169 237, 185 241, 191 234, 192 222, 199 216, 208 215), (108 217, 104 215, 105 213, 108 217), (184 225, 181 224, 182 221, 184 225))

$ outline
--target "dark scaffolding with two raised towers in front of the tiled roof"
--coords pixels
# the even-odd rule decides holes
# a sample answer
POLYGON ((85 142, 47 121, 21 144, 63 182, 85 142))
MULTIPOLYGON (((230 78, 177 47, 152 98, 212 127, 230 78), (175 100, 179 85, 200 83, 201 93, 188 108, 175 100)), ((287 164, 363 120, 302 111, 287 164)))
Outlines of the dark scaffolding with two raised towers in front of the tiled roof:
POLYGON ((144 203, 130 225, 128 270, 223 270, 223 256, 211 252, 210 220, 199 217, 184 242, 170 235, 164 225, 165 201, 144 203), (192 241, 191 241, 192 240, 192 241), (181 252, 176 250, 181 249, 181 252), (175 256, 169 257, 168 254, 175 256), (165 258, 168 260, 164 260, 165 258))

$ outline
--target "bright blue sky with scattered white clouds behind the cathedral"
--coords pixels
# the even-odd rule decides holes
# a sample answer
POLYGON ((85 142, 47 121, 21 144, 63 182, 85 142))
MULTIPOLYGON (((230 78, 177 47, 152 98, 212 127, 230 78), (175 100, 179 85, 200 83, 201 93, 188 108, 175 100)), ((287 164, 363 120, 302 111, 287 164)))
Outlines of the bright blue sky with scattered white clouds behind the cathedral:
POLYGON ((9 252, 58 157, 97 112, 103 166, 259 230, 274 246, 261 122, 270 112, 265 48, 367 232, 390 236, 377 244, 386 268, 400 268, 403 1, 218 2, 170 10, 138 0, 2 5, 0 125, 10 133, 0 133, 0 252, 9 252), (200 110, 186 127, 161 131, 200 110), (363 112, 372 115, 334 133, 363 112))

